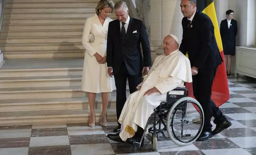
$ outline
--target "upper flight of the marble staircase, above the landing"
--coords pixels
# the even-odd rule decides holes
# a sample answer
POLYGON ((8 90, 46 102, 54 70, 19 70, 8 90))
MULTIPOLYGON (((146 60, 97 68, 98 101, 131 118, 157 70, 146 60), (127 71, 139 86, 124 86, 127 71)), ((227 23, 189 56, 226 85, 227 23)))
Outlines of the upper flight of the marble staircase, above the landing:
POLYGON ((4 59, 84 57, 83 27, 97 2, 6 0, 0 38, 4 59))

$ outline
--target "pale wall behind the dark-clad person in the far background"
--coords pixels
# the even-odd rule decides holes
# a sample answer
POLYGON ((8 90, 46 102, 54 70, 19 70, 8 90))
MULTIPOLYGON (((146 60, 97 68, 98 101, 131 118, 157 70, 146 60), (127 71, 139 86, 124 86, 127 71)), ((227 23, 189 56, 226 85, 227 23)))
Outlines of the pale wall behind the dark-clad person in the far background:
MULTIPOLYGON (((228 9, 234 10, 234 19, 237 20, 237 46, 256 45, 256 0, 214 0, 217 20, 226 18, 228 9)), ((235 57, 231 72, 235 72, 235 57)))

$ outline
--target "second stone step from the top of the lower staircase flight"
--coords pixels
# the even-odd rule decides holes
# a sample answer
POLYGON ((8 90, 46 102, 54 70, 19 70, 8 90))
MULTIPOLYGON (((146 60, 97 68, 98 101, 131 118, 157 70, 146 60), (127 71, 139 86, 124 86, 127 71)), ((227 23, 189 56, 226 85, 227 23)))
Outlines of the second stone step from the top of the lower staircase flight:
POLYGON ((1 88, 81 86, 82 76, 0 77, 1 88))

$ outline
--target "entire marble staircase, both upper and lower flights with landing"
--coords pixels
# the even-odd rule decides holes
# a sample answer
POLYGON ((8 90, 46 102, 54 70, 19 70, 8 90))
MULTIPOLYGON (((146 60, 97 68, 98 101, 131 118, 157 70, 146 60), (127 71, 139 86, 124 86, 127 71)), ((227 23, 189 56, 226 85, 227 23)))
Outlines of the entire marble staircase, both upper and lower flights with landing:
MULTIPOLYGON (((6 62, 0 68, 0 125, 89 121, 87 94, 81 91, 81 38, 97 2, 6 0, 0 37, 6 62)), ((108 121, 116 121, 115 96, 113 91, 108 121)), ((97 94, 97 122, 101 108, 97 94)))

